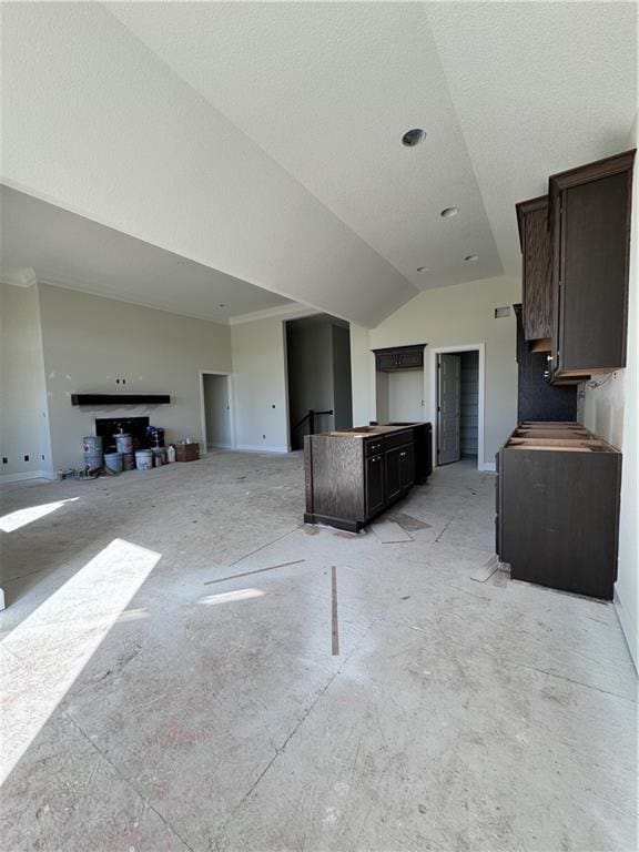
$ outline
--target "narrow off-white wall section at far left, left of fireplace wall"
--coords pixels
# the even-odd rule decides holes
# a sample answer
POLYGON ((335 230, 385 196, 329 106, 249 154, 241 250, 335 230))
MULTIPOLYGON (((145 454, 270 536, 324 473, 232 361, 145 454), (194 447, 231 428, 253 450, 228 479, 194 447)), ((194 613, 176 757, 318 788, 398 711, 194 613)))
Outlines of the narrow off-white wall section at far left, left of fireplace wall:
POLYGON ((51 470, 38 285, 0 284, 0 479, 51 470))

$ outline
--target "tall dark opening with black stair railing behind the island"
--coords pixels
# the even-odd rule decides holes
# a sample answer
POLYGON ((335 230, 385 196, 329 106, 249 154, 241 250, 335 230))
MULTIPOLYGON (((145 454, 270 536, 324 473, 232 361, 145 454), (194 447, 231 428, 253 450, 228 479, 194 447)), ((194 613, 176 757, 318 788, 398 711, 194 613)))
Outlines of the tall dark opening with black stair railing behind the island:
POLYGON ((304 436, 353 426, 351 331, 328 314, 286 323, 291 449, 304 436))

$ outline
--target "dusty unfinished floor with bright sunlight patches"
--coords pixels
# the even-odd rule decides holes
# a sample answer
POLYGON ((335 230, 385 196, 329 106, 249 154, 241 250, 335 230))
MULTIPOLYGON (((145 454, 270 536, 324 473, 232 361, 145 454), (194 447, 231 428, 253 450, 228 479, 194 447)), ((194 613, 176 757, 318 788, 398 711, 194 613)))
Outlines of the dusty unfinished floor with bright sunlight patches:
POLYGON ((615 610, 470 579, 494 477, 436 470, 402 544, 302 511, 298 455, 2 489, 2 846, 636 849, 615 610))

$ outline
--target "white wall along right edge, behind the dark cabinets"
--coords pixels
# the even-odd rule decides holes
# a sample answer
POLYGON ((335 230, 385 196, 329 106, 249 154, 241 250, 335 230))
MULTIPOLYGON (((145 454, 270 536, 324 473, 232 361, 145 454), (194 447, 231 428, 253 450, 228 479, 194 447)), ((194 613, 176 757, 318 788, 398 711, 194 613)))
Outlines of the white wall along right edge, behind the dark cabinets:
MULTIPOLYGON (((637 119, 628 139, 628 148, 637 145, 637 119)), ((639 181, 635 168, 632 189, 632 236, 630 242, 630 286, 628 301, 628 358, 626 369, 609 377, 598 377, 584 386, 582 422, 609 440, 623 454, 621 468, 621 510, 619 519, 618 578, 615 604, 635 666, 639 667, 639 538, 637 518, 637 476, 639 430, 637 427, 639 371, 639 181)))

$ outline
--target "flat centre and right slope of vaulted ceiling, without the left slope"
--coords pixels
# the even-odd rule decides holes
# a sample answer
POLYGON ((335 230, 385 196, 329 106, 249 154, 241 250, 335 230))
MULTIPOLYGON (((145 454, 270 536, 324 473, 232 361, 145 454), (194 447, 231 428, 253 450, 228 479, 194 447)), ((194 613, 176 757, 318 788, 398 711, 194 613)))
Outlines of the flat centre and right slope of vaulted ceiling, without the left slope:
POLYGON ((637 110, 635 3, 110 8, 420 288, 517 272, 515 203, 637 110))

